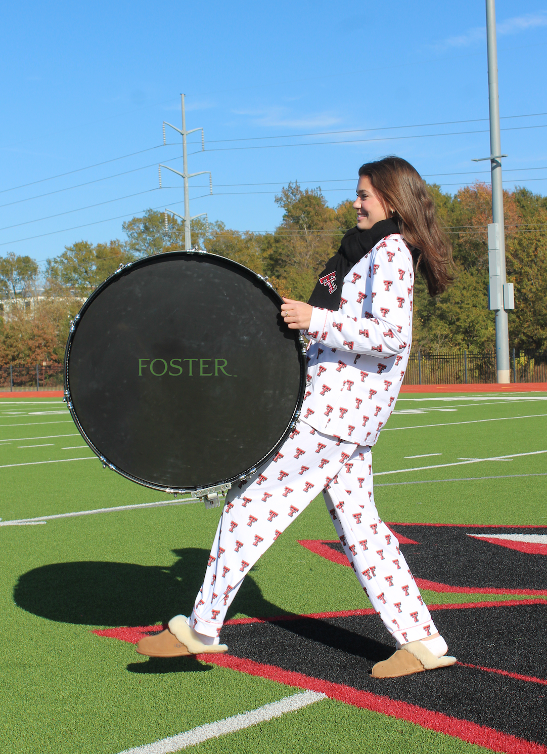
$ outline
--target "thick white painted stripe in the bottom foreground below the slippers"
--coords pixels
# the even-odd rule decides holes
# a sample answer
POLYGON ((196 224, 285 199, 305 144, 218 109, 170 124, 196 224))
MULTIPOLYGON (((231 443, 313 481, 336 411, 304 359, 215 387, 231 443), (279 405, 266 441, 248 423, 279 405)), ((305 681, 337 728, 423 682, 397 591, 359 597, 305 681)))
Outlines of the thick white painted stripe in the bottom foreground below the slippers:
POLYGON ((301 710, 302 707, 308 706, 315 702, 326 699, 325 694, 319 694, 317 691, 303 691, 300 694, 294 694, 292 697, 285 697, 278 702, 271 702, 258 707, 257 710, 227 717, 218 722, 209 722, 206 725, 199 725, 192 728, 191 731, 179 733, 177 736, 163 738, 156 743, 148 743, 145 746, 137 746, 136 749, 124 749, 120 754, 168 754, 168 752, 177 752, 180 749, 186 749, 188 746, 196 746, 198 743, 209 740, 209 738, 218 738, 235 731, 243 731, 251 725, 258 725, 259 722, 267 722, 275 717, 281 717, 289 712, 301 710))

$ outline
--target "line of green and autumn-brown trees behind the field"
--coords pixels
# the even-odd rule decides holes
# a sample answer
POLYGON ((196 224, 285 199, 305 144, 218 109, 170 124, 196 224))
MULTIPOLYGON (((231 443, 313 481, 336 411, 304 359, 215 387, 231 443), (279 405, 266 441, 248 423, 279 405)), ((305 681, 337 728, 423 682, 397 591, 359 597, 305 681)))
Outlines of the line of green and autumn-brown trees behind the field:
MULTIPOLYGON (((440 353, 494 348, 494 312, 487 308, 487 223, 490 187, 475 182, 454 196, 429 185, 454 253, 454 283, 430 299, 417 275, 413 350, 440 353)), ((191 241, 267 276, 279 293, 306 301, 317 276, 355 225, 353 200, 329 207, 321 189, 289 183, 275 198, 283 219, 272 233, 192 222, 191 241)), ((527 189, 504 192, 507 279, 515 284, 509 342, 517 351, 547 351, 547 197, 527 189)), ((70 320, 120 264, 184 248, 184 224, 148 210, 124 222, 123 241, 77 241, 47 259, 45 271, 29 256, 0 258, 0 364, 63 360, 70 320)))

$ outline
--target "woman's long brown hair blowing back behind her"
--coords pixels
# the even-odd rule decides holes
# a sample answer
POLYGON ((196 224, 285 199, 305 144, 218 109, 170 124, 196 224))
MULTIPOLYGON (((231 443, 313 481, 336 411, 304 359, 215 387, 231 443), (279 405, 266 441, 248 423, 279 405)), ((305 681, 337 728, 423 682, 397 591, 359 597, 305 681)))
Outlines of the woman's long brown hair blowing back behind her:
POLYGON ((365 162, 359 176, 368 176, 388 215, 393 209, 393 219, 411 247, 429 296, 442 293, 454 280, 451 243, 439 228, 435 204, 420 174, 406 160, 390 155, 365 162))

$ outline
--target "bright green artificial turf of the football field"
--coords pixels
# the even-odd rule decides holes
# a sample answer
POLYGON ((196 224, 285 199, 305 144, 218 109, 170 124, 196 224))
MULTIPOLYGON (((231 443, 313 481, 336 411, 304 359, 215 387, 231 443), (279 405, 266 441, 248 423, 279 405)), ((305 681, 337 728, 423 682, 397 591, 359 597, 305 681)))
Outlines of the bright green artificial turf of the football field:
MULTIPOLYGON (((542 400, 519 395, 507 400, 506 394, 500 400, 482 400, 484 395, 478 401, 469 396, 455 402, 442 400, 446 396, 414 400, 427 397, 403 395, 397 403, 403 412, 393 415, 374 448, 380 516, 409 523, 547 525, 545 476, 406 484, 545 474, 547 454, 405 471, 463 457, 547 450, 547 421, 540 416, 547 414, 547 395, 524 396, 542 400), (528 415, 535 416, 425 426, 528 415), (405 458, 429 453, 442 455, 405 458), (388 470, 398 473, 382 474, 388 470)), ((84 443, 75 432, 58 399, 0 401, 0 440, 10 440, 0 443, 0 466, 92 456, 76 447, 84 443), (65 433, 73 437, 17 440, 65 433), (20 447, 33 444, 42 446, 20 447), (69 446, 74 449, 63 449, 69 446)), ((103 470, 94 458, 0 468, 3 520, 166 498, 103 470)), ((0 751, 117 754, 297 691, 196 660, 182 658, 166 667, 139 657, 126 642, 91 633, 96 627, 157 624, 190 611, 219 514, 191 504, 0 528, 0 751)), ((367 607, 351 569, 297 541, 335 537, 319 496, 252 569, 228 617, 367 607)), ((461 593, 423 596, 429 603, 481 599, 461 593)), ((455 754, 480 748, 331 700, 199 748, 221 746, 253 754, 316 749, 455 754)))

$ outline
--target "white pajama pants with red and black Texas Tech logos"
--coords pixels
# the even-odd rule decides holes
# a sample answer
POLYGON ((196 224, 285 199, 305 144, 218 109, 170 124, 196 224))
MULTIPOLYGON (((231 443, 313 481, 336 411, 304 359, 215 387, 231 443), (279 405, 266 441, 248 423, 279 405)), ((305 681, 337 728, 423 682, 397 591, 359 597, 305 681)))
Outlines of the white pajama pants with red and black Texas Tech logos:
POLYGON ((350 566, 389 633, 401 644, 436 633, 399 542, 374 505, 371 449, 304 421, 280 452, 228 492, 191 615, 195 630, 219 635, 246 573, 322 490, 350 566))

